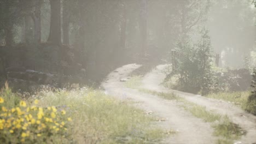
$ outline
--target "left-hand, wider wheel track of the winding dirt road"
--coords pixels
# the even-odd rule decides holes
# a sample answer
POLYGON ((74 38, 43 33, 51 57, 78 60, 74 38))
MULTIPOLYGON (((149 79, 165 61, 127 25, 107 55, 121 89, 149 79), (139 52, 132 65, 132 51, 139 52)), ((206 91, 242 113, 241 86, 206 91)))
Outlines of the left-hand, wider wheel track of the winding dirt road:
POLYGON ((176 130, 177 134, 171 135, 163 143, 215 143, 217 137, 212 136, 211 125, 193 117, 190 113, 181 109, 174 101, 164 100, 156 95, 126 88, 124 82, 120 80, 139 67, 140 65, 137 64, 124 65, 110 73, 107 81, 102 83, 106 93, 119 99, 132 99, 138 102, 136 106, 140 109, 153 112, 155 116, 166 119, 164 122, 157 123, 166 130, 176 130))

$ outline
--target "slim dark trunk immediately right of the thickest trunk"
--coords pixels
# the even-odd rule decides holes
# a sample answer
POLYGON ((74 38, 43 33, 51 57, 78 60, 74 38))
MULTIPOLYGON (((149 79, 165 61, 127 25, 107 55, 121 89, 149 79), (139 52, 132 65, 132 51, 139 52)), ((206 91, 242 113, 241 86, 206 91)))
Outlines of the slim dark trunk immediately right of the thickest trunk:
POLYGON ((68 14, 67 1, 63 1, 62 32, 63 32, 63 44, 69 45, 69 14, 68 14))

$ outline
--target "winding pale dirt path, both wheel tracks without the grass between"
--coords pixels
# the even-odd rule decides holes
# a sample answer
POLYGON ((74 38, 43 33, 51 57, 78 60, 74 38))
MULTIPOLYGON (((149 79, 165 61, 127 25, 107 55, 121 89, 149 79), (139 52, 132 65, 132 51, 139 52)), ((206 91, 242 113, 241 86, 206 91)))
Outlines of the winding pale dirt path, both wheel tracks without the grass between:
MULTIPOLYGON (((107 76, 107 81, 103 82, 102 86, 108 94, 123 100, 132 99, 137 102, 136 106, 140 109, 153 112, 155 116, 166 119, 166 121, 157 123, 166 130, 176 130, 177 134, 171 135, 163 141, 164 143, 216 143, 217 137, 212 136, 213 129, 211 124, 192 116, 182 109, 176 101, 165 100, 156 95, 125 87, 124 82, 120 80, 128 77, 133 70, 139 67, 141 65, 129 64, 116 69, 107 76)), ((162 87, 160 84, 166 76, 162 70, 166 67, 167 65, 158 65, 158 67, 146 74, 143 77, 142 88, 158 92, 174 92, 193 103, 206 106, 207 110, 215 110, 220 114, 228 115, 233 122, 247 130, 247 135, 243 136, 241 140, 243 143, 251 144, 256 142, 256 119, 254 116, 222 101, 162 87)))

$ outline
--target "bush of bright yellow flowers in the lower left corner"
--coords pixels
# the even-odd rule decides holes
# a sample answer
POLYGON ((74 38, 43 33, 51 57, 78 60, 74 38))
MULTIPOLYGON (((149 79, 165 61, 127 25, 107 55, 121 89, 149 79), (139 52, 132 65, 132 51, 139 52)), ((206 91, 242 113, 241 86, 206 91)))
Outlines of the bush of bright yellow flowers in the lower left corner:
POLYGON ((55 106, 39 107, 38 100, 29 106, 24 100, 17 103, 13 97, 0 97, 0 143, 62 143, 69 140, 67 128, 71 118, 65 116, 65 110, 57 110, 55 106))

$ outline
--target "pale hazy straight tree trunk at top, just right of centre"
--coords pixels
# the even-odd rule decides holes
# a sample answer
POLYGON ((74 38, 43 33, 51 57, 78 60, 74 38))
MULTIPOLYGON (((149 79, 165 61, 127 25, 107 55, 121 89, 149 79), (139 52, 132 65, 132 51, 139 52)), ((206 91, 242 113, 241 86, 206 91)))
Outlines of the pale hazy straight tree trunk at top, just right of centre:
POLYGON ((146 56, 147 49, 147 0, 140 1, 139 28, 141 31, 141 58, 146 56))

